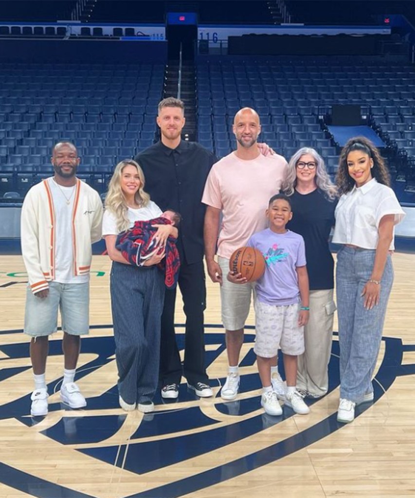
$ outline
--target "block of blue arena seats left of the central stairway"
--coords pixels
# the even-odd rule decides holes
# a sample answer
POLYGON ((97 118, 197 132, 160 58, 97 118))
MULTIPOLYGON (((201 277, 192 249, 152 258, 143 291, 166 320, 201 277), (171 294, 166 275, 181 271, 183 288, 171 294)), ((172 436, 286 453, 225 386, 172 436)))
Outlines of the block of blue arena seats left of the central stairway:
POLYGON ((102 191, 114 165, 155 139, 164 66, 3 64, 0 197, 50 176, 51 147, 73 141, 80 177, 102 191))

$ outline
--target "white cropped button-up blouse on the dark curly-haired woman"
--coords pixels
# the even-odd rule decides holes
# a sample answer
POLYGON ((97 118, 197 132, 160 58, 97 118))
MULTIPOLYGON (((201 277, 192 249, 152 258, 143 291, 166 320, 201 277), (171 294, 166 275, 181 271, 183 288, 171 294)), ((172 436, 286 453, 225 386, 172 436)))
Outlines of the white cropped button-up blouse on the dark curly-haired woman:
MULTIPOLYGON (((384 216, 395 215, 395 225, 405 217, 395 192, 375 178, 343 194, 334 214, 333 243, 350 244, 362 249, 376 249, 379 223, 384 216)), ((395 249, 393 239, 389 249, 395 249)))

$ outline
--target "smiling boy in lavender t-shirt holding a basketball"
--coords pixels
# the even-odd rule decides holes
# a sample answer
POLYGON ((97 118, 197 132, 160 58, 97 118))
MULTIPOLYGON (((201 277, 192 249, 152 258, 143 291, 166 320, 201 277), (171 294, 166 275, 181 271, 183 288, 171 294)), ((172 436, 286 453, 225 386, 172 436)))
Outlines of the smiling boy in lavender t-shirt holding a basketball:
MULTIPOLYGON (((296 413, 306 414, 310 409, 296 389, 297 357, 304 353, 304 325, 309 320, 304 239, 285 228, 293 213, 284 194, 271 197, 266 216, 269 228, 248 241, 248 246, 258 249, 266 262, 265 273, 255 287, 254 351, 262 382, 261 406, 269 415, 282 414, 271 382, 271 367, 281 347, 287 380, 284 404, 296 413)), ((228 278, 235 283, 246 282, 240 273, 229 272, 228 278)))

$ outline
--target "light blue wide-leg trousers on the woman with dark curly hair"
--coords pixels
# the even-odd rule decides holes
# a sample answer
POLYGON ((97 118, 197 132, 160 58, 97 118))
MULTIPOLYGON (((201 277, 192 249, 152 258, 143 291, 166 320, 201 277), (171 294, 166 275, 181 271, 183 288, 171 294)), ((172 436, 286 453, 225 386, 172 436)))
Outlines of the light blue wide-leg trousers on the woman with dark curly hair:
POLYGON ((337 253, 336 292, 340 344, 340 397, 359 402, 373 391, 386 307, 394 271, 390 254, 383 272, 380 302, 371 310, 361 296, 370 279, 375 251, 343 246, 337 253))

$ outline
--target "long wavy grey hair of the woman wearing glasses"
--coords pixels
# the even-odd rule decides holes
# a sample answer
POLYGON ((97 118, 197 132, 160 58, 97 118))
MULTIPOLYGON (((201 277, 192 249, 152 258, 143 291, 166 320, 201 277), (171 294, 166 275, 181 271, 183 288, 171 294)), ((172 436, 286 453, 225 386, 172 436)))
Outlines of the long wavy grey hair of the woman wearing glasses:
POLYGON ((312 155, 317 163, 317 167, 315 169, 315 184, 327 195, 329 199, 333 200, 337 197, 337 188, 328 176, 323 158, 315 149, 312 149, 311 147, 302 147, 291 157, 290 162, 288 163, 287 176, 282 184, 281 191, 285 192, 288 196, 294 194, 294 189, 297 185, 297 163, 301 156, 305 154, 312 155))

